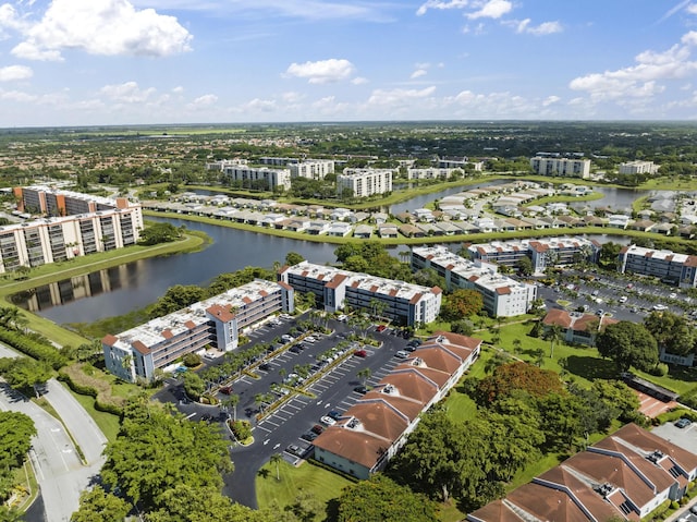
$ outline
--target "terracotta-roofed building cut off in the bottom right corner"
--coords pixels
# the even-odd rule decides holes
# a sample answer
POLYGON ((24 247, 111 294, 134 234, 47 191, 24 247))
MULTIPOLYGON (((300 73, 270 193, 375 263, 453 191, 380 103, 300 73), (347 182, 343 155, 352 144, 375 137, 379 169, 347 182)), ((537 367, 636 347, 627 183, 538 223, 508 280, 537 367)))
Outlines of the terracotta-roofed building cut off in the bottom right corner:
POLYGON ((696 454, 627 424, 466 520, 643 520, 664 501, 683 498, 696 476, 696 454))

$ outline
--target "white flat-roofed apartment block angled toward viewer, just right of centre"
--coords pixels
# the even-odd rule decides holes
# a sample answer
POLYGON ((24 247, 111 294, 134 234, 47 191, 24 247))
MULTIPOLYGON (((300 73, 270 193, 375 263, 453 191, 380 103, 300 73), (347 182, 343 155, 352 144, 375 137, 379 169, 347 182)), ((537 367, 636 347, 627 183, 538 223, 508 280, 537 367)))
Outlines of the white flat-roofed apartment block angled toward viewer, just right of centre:
POLYGON ((497 266, 479 259, 469 260, 444 246, 412 248, 412 269, 435 269, 449 289, 476 290, 484 308, 491 316, 511 317, 526 314, 537 298, 537 286, 516 281, 497 271, 497 266))

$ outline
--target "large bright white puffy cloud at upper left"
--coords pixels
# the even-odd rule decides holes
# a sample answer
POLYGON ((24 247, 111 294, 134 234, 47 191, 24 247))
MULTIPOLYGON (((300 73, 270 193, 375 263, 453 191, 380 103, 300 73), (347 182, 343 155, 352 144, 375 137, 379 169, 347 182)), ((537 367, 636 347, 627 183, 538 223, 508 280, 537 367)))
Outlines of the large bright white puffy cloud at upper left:
POLYGON ((25 40, 12 53, 28 60, 59 60, 65 49, 163 57, 189 50, 192 40, 174 16, 137 11, 129 0, 52 0, 22 33, 25 40))

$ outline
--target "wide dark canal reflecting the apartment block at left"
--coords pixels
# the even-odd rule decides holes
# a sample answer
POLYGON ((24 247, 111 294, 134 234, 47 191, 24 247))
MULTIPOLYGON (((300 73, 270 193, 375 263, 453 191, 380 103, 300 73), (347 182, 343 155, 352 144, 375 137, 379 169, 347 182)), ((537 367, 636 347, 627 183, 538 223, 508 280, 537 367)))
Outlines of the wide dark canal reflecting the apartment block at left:
MULTIPOLYGON (((156 218, 149 218, 156 220, 156 218)), ((39 287, 17 295, 17 306, 56 323, 91 323, 122 315, 155 302, 174 284, 207 286, 216 276, 246 266, 272 267, 297 252, 313 263, 333 263, 337 245, 276 238, 180 219, 161 219, 175 227, 201 230, 213 244, 193 254, 140 259, 84 277, 39 287), (28 299, 27 299, 28 298, 28 299)))

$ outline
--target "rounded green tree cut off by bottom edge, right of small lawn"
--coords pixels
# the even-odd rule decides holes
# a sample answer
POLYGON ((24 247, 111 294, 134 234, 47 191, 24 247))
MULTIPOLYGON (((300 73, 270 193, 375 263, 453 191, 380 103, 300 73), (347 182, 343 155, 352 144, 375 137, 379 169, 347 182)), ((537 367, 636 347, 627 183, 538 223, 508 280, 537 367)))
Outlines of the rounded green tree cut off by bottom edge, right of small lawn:
POLYGON ((344 488, 339 497, 339 522, 431 522, 436 503, 391 478, 377 474, 344 488))

